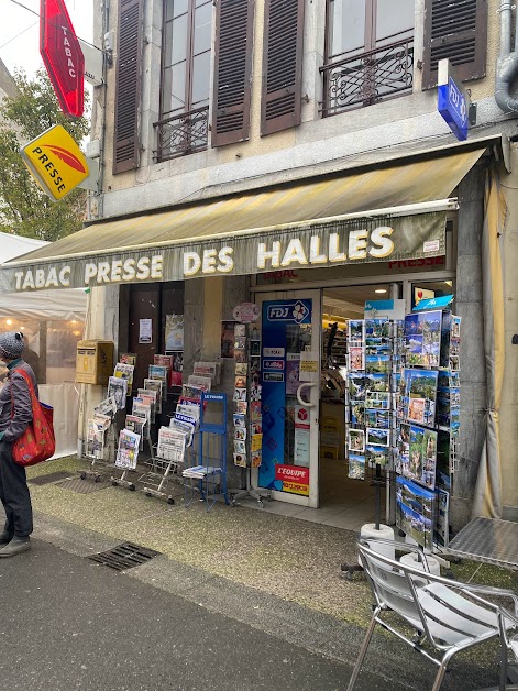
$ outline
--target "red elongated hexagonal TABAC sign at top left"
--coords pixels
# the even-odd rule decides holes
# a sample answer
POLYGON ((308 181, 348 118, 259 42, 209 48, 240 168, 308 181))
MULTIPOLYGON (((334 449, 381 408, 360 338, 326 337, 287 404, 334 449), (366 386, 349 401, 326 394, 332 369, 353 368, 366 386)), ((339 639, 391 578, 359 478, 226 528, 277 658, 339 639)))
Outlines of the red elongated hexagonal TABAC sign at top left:
POLYGON ((84 109, 85 57, 65 0, 41 0, 40 53, 64 113, 84 109))

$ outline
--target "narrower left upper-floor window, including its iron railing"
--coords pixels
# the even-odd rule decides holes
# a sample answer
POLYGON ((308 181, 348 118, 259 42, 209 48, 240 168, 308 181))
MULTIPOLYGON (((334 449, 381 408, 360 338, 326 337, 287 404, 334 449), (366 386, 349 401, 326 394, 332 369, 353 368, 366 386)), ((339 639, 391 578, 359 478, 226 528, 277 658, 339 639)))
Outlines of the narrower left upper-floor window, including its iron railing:
POLYGON ((207 149, 212 10, 211 0, 164 0, 157 161, 207 149))

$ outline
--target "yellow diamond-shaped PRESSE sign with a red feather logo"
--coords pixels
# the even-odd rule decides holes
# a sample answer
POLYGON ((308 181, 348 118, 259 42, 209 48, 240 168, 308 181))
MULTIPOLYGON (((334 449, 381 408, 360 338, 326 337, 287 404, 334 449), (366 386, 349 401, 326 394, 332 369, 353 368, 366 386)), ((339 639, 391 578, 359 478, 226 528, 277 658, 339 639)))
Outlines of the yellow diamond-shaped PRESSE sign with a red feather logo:
POLYGON ((66 197, 89 175, 85 155, 60 124, 33 139, 20 153, 36 183, 55 201, 66 197))

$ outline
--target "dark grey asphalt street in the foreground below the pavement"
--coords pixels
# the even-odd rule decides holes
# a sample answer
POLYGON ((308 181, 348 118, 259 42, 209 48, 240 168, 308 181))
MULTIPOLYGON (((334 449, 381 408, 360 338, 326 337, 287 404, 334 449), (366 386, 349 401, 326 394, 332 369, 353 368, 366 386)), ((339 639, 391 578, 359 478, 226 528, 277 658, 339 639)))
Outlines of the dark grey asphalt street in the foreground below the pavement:
MULTIPOLYGON (((1 689, 323 691, 350 676, 340 662, 37 539, 0 569, 1 689)), ((360 690, 387 688, 362 677, 360 690)))

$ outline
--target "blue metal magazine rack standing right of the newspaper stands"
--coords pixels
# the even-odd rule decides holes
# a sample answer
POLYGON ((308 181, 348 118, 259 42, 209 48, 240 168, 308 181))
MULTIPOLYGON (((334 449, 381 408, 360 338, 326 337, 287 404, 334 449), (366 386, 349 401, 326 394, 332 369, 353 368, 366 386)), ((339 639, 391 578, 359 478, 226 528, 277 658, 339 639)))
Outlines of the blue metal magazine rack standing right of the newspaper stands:
POLYGON ((192 446, 186 450, 181 475, 186 506, 189 506, 195 497, 206 503, 207 511, 219 497, 223 497, 224 503, 229 504, 227 394, 207 392, 201 395, 200 427, 194 435, 192 446))

